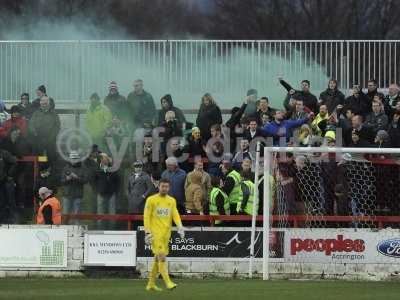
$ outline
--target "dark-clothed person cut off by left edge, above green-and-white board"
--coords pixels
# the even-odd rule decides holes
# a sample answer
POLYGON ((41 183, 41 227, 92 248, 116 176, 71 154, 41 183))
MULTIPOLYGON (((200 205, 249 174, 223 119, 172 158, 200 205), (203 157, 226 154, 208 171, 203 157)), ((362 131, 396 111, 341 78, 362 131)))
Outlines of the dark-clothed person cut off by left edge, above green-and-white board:
POLYGON ((15 182, 17 159, 0 149, 0 224, 13 224, 15 220, 15 182))

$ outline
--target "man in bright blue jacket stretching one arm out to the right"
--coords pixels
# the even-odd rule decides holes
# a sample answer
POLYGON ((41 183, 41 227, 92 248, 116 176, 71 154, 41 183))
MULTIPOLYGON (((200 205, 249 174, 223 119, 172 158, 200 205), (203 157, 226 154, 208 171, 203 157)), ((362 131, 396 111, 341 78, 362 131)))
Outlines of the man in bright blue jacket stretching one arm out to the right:
POLYGON ((291 132, 290 129, 299 127, 308 122, 310 115, 307 118, 299 119, 299 120, 285 120, 284 111, 278 110, 275 113, 275 119, 269 124, 266 124, 263 127, 263 131, 268 136, 272 136, 274 140, 274 146, 279 146, 279 141, 283 139, 287 142, 290 138, 291 132))

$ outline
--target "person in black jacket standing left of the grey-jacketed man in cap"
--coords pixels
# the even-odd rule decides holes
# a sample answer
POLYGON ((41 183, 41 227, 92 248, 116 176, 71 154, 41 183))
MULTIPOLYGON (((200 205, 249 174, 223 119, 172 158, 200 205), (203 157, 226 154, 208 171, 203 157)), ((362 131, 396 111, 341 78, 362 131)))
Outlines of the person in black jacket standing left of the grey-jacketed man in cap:
MULTIPOLYGON (((97 194, 97 214, 116 214, 117 193, 121 186, 121 180, 117 170, 112 169, 112 160, 105 154, 100 154, 100 167, 95 173, 95 187, 97 194)), ((113 229, 114 222, 110 222, 108 229, 113 229)), ((103 221, 97 221, 97 227, 104 227, 103 221)))

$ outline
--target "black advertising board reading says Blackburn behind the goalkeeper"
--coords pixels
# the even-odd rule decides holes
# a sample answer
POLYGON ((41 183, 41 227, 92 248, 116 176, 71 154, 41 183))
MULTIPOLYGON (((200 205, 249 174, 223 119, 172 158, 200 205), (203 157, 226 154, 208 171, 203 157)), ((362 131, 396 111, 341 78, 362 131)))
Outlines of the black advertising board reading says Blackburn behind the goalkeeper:
MULTIPOLYGON (((262 258, 262 232, 256 231, 254 255, 262 258)), ((214 259, 248 259, 250 256, 250 230, 189 230, 181 239, 172 232, 170 239, 170 258, 214 258, 214 259)), ((283 231, 273 231, 270 234, 270 258, 283 259, 283 231)), ((151 247, 144 243, 144 232, 138 231, 138 257, 151 257, 151 247)))

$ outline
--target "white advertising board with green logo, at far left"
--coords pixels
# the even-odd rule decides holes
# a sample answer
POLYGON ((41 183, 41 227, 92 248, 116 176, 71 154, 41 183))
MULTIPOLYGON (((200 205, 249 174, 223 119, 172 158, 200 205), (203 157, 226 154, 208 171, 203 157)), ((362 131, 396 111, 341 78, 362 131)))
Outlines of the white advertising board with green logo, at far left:
POLYGON ((0 228, 0 267, 67 267, 66 229, 0 228))

